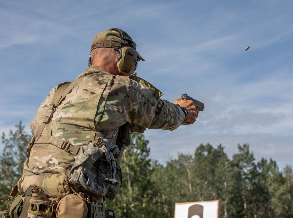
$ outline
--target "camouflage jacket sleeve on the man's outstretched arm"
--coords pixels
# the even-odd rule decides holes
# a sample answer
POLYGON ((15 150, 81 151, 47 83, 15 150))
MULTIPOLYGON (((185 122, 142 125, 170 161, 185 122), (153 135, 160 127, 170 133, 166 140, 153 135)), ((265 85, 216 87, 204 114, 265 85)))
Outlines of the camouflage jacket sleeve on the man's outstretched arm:
POLYGON ((175 130, 181 125, 185 119, 183 111, 177 105, 162 100, 160 90, 137 76, 130 76, 129 81, 128 122, 163 130, 175 130))

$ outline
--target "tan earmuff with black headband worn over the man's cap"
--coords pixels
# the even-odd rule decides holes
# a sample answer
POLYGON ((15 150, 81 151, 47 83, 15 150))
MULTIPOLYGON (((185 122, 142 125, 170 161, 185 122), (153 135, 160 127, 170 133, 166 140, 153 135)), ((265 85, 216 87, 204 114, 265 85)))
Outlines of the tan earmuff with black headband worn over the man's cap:
POLYGON ((133 47, 133 41, 131 37, 121 29, 116 30, 121 34, 121 45, 118 52, 117 67, 119 73, 128 76, 136 70, 139 62, 136 50, 133 47))

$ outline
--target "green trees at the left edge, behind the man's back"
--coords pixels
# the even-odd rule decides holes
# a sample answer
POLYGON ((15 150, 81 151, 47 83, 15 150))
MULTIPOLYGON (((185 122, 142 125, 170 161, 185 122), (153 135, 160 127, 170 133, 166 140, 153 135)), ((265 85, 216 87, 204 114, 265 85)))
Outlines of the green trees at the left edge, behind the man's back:
MULTIPOLYGON (((2 133, 4 149, 0 155, 0 196, 7 197, 22 175, 23 163, 26 160, 26 147, 30 140, 20 121, 16 130, 9 130, 8 137, 2 133)), ((6 206, 1 204, 1 210, 6 206)))

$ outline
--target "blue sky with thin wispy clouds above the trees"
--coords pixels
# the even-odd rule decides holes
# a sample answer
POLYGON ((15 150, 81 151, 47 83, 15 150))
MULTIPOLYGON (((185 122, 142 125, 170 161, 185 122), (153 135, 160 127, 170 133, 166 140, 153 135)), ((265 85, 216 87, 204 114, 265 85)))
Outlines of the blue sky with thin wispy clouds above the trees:
POLYGON ((231 159, 249 144, 256 161, 293 165, 292 11, 292 0, 2 0, 0 132, 21 120, 30 133, 49 91, 87 69, 94 35, 120 28, 145 59, 138 76, 163 99, 205 104, 193 125, 145 131, 153 159, 207 143, 231 159))

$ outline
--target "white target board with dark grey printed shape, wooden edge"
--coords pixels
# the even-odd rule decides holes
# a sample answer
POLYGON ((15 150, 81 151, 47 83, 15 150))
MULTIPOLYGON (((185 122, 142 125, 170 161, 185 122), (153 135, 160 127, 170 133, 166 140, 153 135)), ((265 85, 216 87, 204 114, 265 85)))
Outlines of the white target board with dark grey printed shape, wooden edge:
POLYGON ((175 218, 219 218, 219 214, 219 200, 175 204, 175 218))

